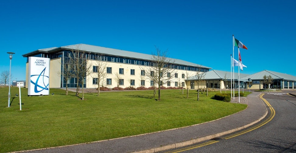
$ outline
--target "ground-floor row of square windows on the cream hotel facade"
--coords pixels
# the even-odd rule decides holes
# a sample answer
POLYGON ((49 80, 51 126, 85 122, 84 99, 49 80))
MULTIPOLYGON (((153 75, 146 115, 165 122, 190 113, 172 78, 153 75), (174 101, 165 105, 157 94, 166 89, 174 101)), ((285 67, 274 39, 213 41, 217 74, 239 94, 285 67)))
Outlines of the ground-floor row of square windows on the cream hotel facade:
MULTIPOLYGON (((93 84, 98 84, 98 78, 93 78, 93 84)), ((107 78, 106 84, 107 85, 112 85, 112 79, 107 78)), ((124 85, 124 79, 119 79, 118 84, 119 85, 124 85)), ((130 85, 134 86, 135 85, 135 80, 130 80, 130 85)), ((161 81, 160 85, 163 85, 162 81, 161 81)), ((181 82, 181 85, 182 85, 182 87, 184 87, 185 82, 181 82)), ((145 80, 141 80, 141 86, 145 86, 145 80)), ((153 80, 150 81, 150 86, 154 86, 154 81, 153 80)), ((167 86, 171 86, 171 81, 167 82, 167 86)), ((179 87, 179 82, 175 82, 175 87, 179 87)))

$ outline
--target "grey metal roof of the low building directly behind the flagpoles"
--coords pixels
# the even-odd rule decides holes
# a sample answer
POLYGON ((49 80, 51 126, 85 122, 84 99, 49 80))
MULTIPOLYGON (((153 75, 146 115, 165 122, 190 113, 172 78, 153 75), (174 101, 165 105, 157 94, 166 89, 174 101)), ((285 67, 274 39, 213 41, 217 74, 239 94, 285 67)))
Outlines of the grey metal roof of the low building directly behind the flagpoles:
MULTIPOLYGON (((204 80, 224 80, 225 73, 226 73, 226 79, 231 80, 231 72, 220 71, 220 70, 211 70, 211 71, 205 72, 203 79, 204 80)), ((239 73, 239 78, 241 79, 248 75, 249 74, 239 73)), ((196 76, 190 77, 189 80, 196 80, 196 76)), ((238 80, 238 73, 234 73, 234 80, 238 80)), ((242 80, 248 80, 248 79, 242 79, 242 80)))

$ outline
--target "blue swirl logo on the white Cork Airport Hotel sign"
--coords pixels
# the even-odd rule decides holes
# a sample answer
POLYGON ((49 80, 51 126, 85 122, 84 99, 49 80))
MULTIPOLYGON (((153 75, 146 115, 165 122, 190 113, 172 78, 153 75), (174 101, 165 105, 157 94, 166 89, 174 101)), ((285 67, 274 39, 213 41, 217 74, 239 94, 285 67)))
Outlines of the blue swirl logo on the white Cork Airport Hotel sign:
POLYGON ((44 75, 45 69, 46 67, 42 70, 42 72, 39 75, 31 75, 30 80, 31 80, 31 83, 34 84, 35 93, 41 92, 43 90, 48 90, 49 76, 44 75))

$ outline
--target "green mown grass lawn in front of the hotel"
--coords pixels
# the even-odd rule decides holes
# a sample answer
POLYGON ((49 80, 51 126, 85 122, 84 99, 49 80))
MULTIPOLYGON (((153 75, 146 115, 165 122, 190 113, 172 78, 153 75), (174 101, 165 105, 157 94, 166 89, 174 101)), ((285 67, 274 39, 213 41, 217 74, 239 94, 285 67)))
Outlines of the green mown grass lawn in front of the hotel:
MULTIPOLYGON (((189 90, 189 99, 179 90, 161 90, 161 101, 153 91, 75 93, 50 89, 48 96, 27 96, 21 88, 22 111, 17 87, 0 88, 0 152, 21 151, 132 136, 194 125, 219 119, 247 107, 212 99, 216 92, 189 90), (81 93, 79 94, 81 96, 81 93)), ((230 92, 230 91, 229 91, 230 92)), ((225 93, 225 91, 224 91, 225 93)), ((245 92, 247 93, 247 92, 245 92)))

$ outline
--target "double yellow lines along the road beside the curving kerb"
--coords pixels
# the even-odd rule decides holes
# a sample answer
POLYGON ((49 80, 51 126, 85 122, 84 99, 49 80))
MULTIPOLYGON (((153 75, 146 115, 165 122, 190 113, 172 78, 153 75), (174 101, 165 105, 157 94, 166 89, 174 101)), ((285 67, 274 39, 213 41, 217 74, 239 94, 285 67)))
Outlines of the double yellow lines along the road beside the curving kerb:
MULTIPOLYGON (((252 130, 255 130, 255 129, 258 129, 259 127, 265 125, 266 123, 270 122, 273 117, 275 116, 275 110, 272 108, 272 106, 270 105, 270 103, 268 101, 266 101, 262 96, 264 94, 261 94, 259 97, 266 103, 267 107, 269 107, 270 109, 270 116, 262 123, 252 127, 252 128, 249 128, 247 130, 244 130, 244 131, 241 131, 239 133, 235 133, 231 136, 228 136, 228 137, 224 137, 224 138, 221 138, 221 139, 230 139, 230 138, 233 138, 233 137, 236 137, 236 136, 239 136, 241 134, 244 134, 244 133, 247 133, 247 132, 250 132, 252 130)), ((177 150, 173 150, 173 151, 169 151, 167 153, 177 153, 177 152, 182 152, 182 151, 187 151, 187 150, 191 150, 191 149, 195 149, 195 148, 199 148, 199 147, 203 147, 203 146, 206 146, 206 145, 209 145, 209 144, 213 144, 213 143, 216 143, 216 142, 219 142, 219 141, 215 141, 215 140, 212 140, 212 141, 208 141, 208 142, 205 142, 203 144, 198 144, 198 145, 195 145, 195 146, 190 146, 190 147, 187 147, 187 148, 181 148, 181 149, 177 149, 177 150)))

